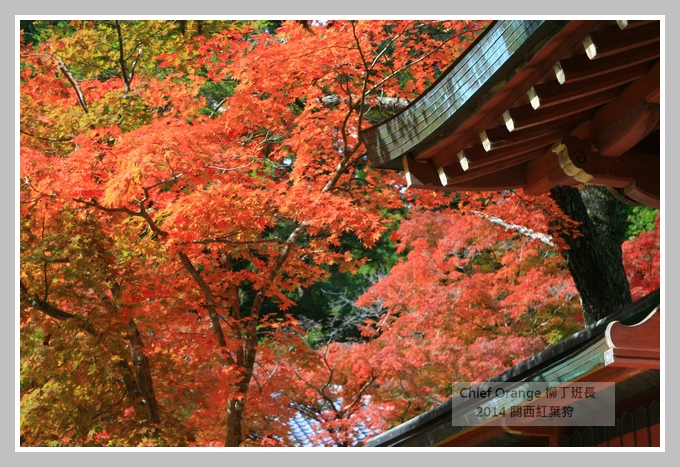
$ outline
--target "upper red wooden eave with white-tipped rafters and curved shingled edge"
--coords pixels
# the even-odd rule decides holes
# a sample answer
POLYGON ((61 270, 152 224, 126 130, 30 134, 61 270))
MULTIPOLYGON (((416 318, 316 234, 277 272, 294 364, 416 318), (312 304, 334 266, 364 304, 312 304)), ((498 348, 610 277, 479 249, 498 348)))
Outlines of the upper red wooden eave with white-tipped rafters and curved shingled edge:
POLYGON ((540 194, 591 183, 659 207, 660 29, 493 22, 409 107, 361 132, 368 156, 412 188, 540 194), (587 151, 570 151, 567 137, 587 151))

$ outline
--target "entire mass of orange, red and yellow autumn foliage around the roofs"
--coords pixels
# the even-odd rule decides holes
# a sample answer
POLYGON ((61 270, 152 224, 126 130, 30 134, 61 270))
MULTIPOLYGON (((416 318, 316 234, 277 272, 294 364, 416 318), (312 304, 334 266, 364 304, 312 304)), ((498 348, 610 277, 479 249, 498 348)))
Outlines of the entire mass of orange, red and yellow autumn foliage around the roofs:
MULTIPOLYGON (((302 413, 318 443, 355 445, 580 326, 560 245, 508 227, 545 233, 554 206, 404 192, 358 140, 486 24, 74 21, 22 39, 23 443, 280 446, 302 413), (405 207, 361 339, 310 347, 300 291, 357 271, 344 236, 371 248, 405 207)), ((642 241, 640 291, 658 277, 642 241)))

